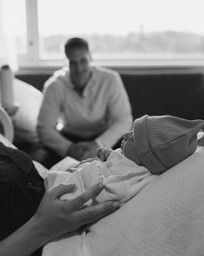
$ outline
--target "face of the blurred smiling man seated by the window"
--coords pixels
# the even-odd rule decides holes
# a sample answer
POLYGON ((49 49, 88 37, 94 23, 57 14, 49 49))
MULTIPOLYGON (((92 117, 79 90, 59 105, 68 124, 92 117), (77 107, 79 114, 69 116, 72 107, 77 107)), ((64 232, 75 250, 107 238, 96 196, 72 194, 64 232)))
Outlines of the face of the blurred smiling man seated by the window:
POLYGON ((76 48, 69 51, 69 71, 72 83, 76 89, 82 89, 89 80, 90 61, 89 51, 83 48, 76 48))

